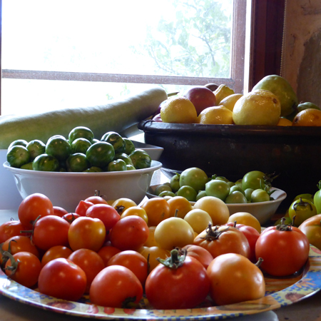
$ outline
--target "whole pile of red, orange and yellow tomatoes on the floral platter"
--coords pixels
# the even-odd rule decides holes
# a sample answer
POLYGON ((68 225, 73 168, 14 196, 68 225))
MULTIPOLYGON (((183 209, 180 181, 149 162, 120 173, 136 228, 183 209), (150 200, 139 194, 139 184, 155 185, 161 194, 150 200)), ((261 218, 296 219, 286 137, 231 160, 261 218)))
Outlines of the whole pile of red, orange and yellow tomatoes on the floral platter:
POLYGON ((95 305, 140 307, 146 295, 155 309, 179 309, 258 299, 263 273, 290 275, 305 265, 310 247, 299 229, 259 233, 252 215, 229 216, 210 196, 189 205, 180 196, 136 205, 94 195, 66 213, 32 194, 19 220, 0 225, 1 267, 21 285, 65 300, 88 294, 95 305))

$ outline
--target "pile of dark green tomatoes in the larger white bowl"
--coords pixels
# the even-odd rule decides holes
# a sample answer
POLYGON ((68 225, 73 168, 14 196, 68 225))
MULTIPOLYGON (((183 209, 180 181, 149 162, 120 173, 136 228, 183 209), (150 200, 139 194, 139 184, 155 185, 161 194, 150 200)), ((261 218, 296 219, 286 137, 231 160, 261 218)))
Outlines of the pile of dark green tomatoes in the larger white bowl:
POLYGON ((65 138, 55 135, 39 140, 13 141, 6 155, 11 167, 26 170, 101 172, 151 167, 151 157, 120 134, 108 131, 101 140, 90 128, 73 128, 65 138))

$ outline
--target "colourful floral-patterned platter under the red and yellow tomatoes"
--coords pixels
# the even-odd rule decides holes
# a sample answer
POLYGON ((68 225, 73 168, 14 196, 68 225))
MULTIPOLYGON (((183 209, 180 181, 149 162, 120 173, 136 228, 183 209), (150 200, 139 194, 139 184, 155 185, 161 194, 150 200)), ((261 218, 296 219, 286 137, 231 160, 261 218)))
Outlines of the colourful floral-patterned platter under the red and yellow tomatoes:
POLYGON ((100 320, 222 320, 275 310, 319 291, 321 289, 321 251, 310 246, 309 260, 300 275, 287 278, 265 277, 265 282, 267 290, 265 297, 234 305, 214 307, 206 305, 205 302, 204 306, 195 309, 153 310, 148 307, 146 300, 142 300, 140 309, 118 309, 92 305, 88 302, 88 297, 83 297, 79 302, 70 302, 42 295, 36 290, 10 280, 0 270, 2 295, 52 312, 100 320))

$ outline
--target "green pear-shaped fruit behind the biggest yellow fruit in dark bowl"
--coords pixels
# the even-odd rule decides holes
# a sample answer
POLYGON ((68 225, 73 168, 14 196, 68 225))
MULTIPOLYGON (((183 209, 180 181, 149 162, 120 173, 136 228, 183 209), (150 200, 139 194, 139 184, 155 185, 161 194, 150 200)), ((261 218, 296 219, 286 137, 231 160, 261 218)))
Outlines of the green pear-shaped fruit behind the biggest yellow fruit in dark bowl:
POLYGON ((254 87, 271 91, 277 96, 281 103, 281 116, 288 116, 296 110, 299 101, 290 83, 283 77, 277 75, 265 76, 254 87))

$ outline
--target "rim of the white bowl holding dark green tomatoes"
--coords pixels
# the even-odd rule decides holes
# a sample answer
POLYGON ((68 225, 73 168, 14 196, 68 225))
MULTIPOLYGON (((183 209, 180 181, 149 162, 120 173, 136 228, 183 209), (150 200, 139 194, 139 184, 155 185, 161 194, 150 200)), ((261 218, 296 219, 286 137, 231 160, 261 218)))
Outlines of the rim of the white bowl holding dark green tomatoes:
POLYGON ((21 174, 21 175, 34 175, 34 176, 52 176, 55 177, 63 176, 63 177, 72 177, 72 176, 83 176, 83 177, 101 177, 101 176, 131 176, 131 175, 142 175, 145 173, 150 173, 151 171, 158 170, 162 167, 162 163, 158 161, 152 161, 151 167, 143 168, 143 169, 136 169, 136 170, 119 170, 115 172, 49 172, 49 171, 42 171, 42 170, 27 170, 21 168, 14 168, 9 165, 8 162, 4 162, 4 168, 6 170, 10 170, 12 173, 21 174))

